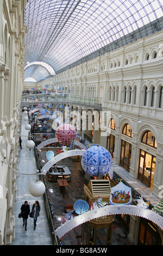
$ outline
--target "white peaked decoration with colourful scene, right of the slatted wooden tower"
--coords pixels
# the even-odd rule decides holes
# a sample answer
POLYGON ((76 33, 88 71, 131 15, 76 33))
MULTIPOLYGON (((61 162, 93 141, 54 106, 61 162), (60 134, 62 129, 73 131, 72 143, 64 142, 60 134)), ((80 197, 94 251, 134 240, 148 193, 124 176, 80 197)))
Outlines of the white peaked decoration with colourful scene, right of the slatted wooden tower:
POLYGON ((118 185, 111 188, 110 204, 124 204, 128 205, 132 203, 131 188, 124 185, 121 181, 118 185))

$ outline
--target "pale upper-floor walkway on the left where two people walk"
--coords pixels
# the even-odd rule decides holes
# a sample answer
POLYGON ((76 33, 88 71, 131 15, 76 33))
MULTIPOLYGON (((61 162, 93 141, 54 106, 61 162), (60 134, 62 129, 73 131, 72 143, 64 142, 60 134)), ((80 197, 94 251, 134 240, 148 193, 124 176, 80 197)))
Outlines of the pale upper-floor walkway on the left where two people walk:
MULTIPOLYGON (((37 170, 36 160, 34 156, 34 149, 26 148, 28 131, 24 129, 26 124, 23 121, 22 113, 22 127, 21 127, 21 138, 22 138, 22 149, 18 156, 18 172, 24 173, 35 173, 37 170)), ((35 180, 35 175, 22 175, 18 174, 16 180, 17 184, 17 201, 15 202, 15 241, 11 245, 53 245, 51 233, 47 222, 46 209, 43 201, 43 197, 35 198, 29 193, 29 185, 35 180), (33 219, 28 218, 27 231, 24 230, 22 218, 18 218, 20 213, 21 205, 27 200, 32 209, 32 205, 35 200, 38 200, 41 205, 40 216, 37 218, 37 226, 34 230, 33 219)))

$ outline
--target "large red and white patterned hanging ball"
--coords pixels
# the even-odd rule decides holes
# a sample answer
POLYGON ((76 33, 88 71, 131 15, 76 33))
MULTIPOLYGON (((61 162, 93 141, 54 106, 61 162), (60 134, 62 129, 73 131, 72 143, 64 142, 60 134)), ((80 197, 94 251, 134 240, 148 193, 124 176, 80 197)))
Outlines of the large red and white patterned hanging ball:
POLYGON ((55 137, 61 145, 70 145, 76 139, 77 131, 70 124, 62 124, 56 130, 55 137))

